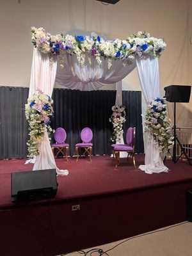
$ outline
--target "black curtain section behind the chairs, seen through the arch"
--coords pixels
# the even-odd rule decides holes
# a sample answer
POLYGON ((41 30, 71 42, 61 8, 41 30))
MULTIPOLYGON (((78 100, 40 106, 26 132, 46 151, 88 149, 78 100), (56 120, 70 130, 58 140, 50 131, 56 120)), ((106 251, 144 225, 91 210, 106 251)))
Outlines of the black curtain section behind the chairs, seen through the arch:
MULTIPOLYGON (((124 140, 127 128, 136 127, 136 152, 143 153, 143 127, 141 118, 141 92, 123 91, 123 105, 126 107, 124 140)), ((75 145, 81 142, 80 133, 84 127, 93 131, 93 155, 111 154, 113 125, 109 122, 111 107, 115 105, 116 91, 54 89, 54 118, 52 127, 63 127, 67 132, 66 142, 70 155, 75 155, 75 145)))

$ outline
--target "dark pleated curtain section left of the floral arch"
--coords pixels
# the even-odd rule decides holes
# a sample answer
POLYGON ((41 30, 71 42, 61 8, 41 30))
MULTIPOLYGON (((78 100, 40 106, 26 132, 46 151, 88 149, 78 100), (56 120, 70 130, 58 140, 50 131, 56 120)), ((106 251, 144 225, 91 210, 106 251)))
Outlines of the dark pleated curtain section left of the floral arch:
POLYGON ((25 104, 29 88, 0 87, 0 159, 28 155, 28 122, 25 104))

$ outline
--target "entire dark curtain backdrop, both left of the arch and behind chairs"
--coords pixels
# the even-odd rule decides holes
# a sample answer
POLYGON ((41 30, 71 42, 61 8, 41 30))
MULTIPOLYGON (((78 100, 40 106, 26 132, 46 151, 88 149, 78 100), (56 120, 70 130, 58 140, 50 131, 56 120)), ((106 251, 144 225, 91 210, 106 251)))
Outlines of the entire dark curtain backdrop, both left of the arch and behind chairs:
MULTIPOLYGON (((0 86, 0 159, 19 159, 28 155, 28 122, 24 111, 28 93, 29 88, 0 86)), ((75 145, 81 142, 80 132, 84 127, 93 131, 93 155, 111 154, 113 126, 109 117, 115 97, 116 91, 54 89, 51 125, 53 129, 63 127, 67 132, 70 156, 75 155, 75 145)), ((136 152, 143 153, 141 92, 124 91, 123 104, 127 113, 124 131, 130 126, 136 127, 136 152)))

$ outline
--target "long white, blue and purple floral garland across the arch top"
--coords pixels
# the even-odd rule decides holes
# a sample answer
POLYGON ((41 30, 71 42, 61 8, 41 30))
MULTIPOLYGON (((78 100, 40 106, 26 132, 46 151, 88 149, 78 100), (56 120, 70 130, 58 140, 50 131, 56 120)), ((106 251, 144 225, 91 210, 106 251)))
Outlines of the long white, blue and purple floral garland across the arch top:
POLYGON ((70 55, 76 54, 77 61, 84 64, 85 58, 90 62, 91 56, 95 56, 99 65, 101 58, 108 58, 108 68, 111 67, 112 60, 124 60, 124 65, 132 63, 135 56, 143 58, 145 56, 159 57, 166 48, 163 39, 150 36, 145 31, 139 31, 136 35, 129 36, 126 40, 109 41, 100 37, 96 33, 91 36, 72 35, 51 35, 44 28, 31 27, 32 43, 41 52, 50 53, 53 56, 60 55, 61 59, 66 52, 70 55))

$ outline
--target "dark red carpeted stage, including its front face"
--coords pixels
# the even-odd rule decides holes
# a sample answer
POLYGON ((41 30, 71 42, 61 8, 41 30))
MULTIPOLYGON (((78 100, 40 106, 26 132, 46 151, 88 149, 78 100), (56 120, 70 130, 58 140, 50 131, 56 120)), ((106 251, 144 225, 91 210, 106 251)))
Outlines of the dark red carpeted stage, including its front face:
MULTIPOLYGON (((58 176, 54 198, 12 202, 11 174, 32 170, 26 159, 0 161, 1 254, 51 256, 110 243, 186 220, 186 190, 192 167, 166 160, 168 173, 146 174, 110 156, 56 159, 68 176, 58 176), (79 205, 79 211, 72 211, 79 205), (10 246, 12 244, 12 246, 10 246)), ((136 155, 136 165, 144 155, 136 155)))

